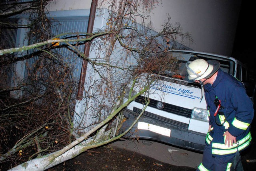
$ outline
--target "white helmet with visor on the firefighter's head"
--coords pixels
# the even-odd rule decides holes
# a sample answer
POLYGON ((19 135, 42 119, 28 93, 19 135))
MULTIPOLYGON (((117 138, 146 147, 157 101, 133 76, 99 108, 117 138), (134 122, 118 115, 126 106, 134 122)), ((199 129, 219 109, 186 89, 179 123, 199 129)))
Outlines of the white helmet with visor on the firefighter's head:
POLYGON ((218 61, 196 59, 194 61, 188 61, 180 75, 184 80, 192 83, 195 80, 208 79, 212 77, 219 68, 220 63, 218 61))

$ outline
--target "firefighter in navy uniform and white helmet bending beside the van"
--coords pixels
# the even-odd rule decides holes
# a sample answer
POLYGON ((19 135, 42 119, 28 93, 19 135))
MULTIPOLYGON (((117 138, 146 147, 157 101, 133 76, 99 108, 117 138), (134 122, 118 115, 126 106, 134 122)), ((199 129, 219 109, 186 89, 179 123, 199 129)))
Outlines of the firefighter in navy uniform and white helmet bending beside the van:
POLYGON ((222 71, 215 60, 188 61, 186 75, 182 76, 190 83, 202 85, 210 113, 206 146, 197 171, 232 169, 236 154, 240 157, 239 151, 246 149, 252 140, 250 124, 254 109, 243 83, 222 71))

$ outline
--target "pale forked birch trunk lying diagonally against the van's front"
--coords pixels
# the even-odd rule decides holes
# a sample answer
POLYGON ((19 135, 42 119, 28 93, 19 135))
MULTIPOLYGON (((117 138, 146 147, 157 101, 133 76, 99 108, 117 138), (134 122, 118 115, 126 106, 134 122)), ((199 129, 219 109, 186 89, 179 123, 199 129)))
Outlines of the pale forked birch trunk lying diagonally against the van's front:
MULTIPOLYGON (((78 138, 74 142, 70 143, 69 145, 67 145, 63 149, 61 149, 59 151, 56 151, 54 153, 50 153, 48 155, 38 157, 36 159, 32 159, 32 160, 27 161, 25 163, 22 163, 22 164, 20 164, 16 167, 10 169, 10 171, 15 171, 15 170, 19 170, 19 171, 34 171, 34 170, 44 171, 44 170, 46 170, 50 167, 53 167, 53 166, 55 166, 59 163, 62 163, 63 161, 66 161, 68 159, 72 159, 72 158, 76 157, 77 155, 79 155, 80 153, 82 153, 82 152, 84 152, 88 149, 91 149, 91 148, 94 148, 94 147, 99 147, 101 145, 113 142, 114 140, 120 139, 122 136, 124 136, 132 128, 132 126, 134 126, 134 124, 136 122, 134 122, 134 124, 131 125, 130 128, 128 128, 122 134, 120 134, 118 136, 115 136, 114 138, 110 138, 110 139, 104 138, 104 137, 108 137, 108 134, 109 134, 109 132, 105 132, 106 124, 114 116, 116 116, 123 108, 125 108, 131 101, 133 101, 137 96, 146 92, 146 90, 148 90, 148 88, 149 88, 149 86, 145 87, 138 94, 129 98, 128 101, 126 101, 119 108, 117 108, 112 114, 110 114, 106 120, 104 120, 103 122, 101 122, 100 124, 98 124, 97 126, 92 128, 89 132, 82 135, 80 138, 78 138), (93 132, 96 132, 98 129, 100 129, 100 130, 97 133, 97 135, 88 139, 88 136, 90 136, 93 132)), ((136 121, 138 121, 140 116, 143 114, 143 112, 146 109, 146 107, 148 106, 148 104, 149 104, 149 102, 147 102, 147 104, 145 105, 144 109, 142 110, 142 112, 140 113, 140 115, 138 116, 136 121)))

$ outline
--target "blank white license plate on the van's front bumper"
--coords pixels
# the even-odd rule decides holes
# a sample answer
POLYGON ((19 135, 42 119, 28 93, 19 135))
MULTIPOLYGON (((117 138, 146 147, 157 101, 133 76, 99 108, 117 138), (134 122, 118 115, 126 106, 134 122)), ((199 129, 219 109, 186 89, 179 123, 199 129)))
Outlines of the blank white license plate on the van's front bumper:
POLYGON ((153 125, 153 124, 148 124, 146 122, 138 122, 138 129, 140 129, 140 130, 149 130, 149 131, 155 132, 157 134, 161 134, 161 135, 168 136, 168 137, 171 136, 171 130, 170 129, 163 128, 163 127, 160 127, 160 126, 156 126, 156 125, 153 125))

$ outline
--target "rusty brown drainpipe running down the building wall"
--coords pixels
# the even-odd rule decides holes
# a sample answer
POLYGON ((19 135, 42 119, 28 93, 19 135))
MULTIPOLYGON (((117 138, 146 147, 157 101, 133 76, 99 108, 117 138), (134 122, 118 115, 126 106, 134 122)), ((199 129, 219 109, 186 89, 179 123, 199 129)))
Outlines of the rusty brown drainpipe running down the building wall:
MULTIPOLYGON (((92 0, 89 21, 88 21, 88 27, 87 27, 87 33, 92 33, 97 3, 98 3, 98 0, 92 0)), ((90 52, 90 42, 87 41, 84 44, 84 56, 86 58, 89 57, 89 52, 90 52)), ((76 96, 77 100, 82 100, 82 96, 83 96, 83 92, 84 92, 84 82, 85 82, 87 64, 88 64, 88 61, 83 58, 82 69, 81 69, 79 85, 78 85, 78 92, 77 92, 77 96, 76 96)))

